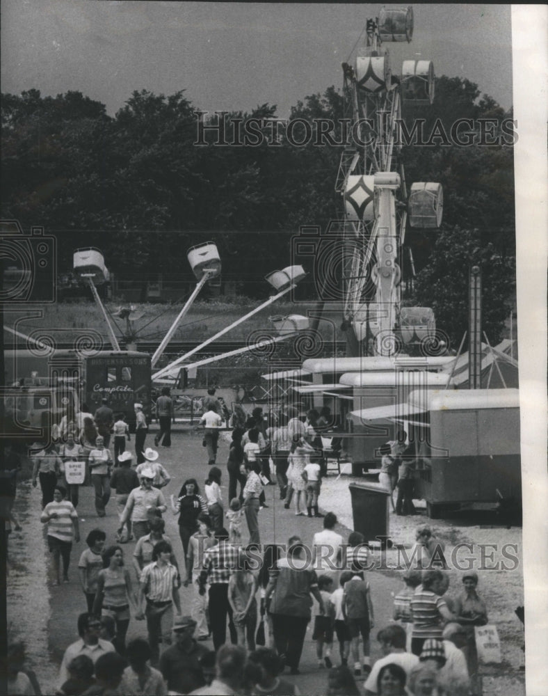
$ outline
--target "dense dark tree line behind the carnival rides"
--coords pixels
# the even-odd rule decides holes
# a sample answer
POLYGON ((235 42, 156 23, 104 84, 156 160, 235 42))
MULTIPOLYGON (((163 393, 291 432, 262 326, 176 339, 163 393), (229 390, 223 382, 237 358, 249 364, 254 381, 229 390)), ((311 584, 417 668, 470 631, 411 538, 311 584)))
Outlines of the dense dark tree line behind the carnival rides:
MULTIPOLYGON (((330 87, 298 102, 291 118, 337 122, 342 114, 343 97, 330 87)), ((113 117, 79 92, 4 94, 2 217, 56 234, 62 268, 71 267, 76 246, 99 246, 111 270, 141 278, 161 269, 190 280, 186 250, 211 237, 223 278, 264 296, 257 279, 291 262, 290 239, 300 226, 324 228, 342 210, 335 193, 341 148, 296 147, 283 136, 274 143, 268 120, 275 117, 270 104, 227 114, 229 129, 266 119, 255 146, 212 145, 213 132, 204 135, 209 144, 196 145, 199 114, 184 91, 136 91, 113 117)), ((475 84, 447 77, 437 79, 433 106, 404 111, 409 128, 424 118, 427 131, 438 122, 450 132, 456 118, 472 119, 477 129, 488 118, 499 132, 510 117, 475 84)), ((417 277, 405 303, 433 306, 438 325, 458 342, 467 323, 467 268, 479 262, 485 329, 497 340, 515 291, 511 146, 460 147, 440 138, 405 147, 401 157, 408 185, 444 187, 441 230, 408 230, 417 277)))

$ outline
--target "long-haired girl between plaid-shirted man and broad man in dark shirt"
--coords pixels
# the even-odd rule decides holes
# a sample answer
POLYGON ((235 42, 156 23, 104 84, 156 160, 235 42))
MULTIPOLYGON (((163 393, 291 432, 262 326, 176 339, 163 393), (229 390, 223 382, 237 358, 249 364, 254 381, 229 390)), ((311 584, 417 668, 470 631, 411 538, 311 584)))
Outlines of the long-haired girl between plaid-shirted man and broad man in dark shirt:
POLYGON ((246 555, 239 558, 239 567, 228 581, 228 601, 232 607, 238 644, 255 650, 255 628, 257 628, 257 577, 249 569, 246 555), (247 642, 246 642, 247 639, 247 642))

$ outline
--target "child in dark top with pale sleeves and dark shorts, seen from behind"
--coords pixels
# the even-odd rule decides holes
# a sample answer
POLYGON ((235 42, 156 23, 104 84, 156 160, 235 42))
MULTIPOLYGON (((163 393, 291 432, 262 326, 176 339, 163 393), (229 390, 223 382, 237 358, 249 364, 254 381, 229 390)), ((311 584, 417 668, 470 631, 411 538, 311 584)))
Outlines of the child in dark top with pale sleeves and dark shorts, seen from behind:
POLYGON ((360 677, 360 634, 363 641, 363 671, 371 672, 369 658, 369 631, 373 628, 373 603, 371 588, 363 579, 362 573, 353 572, 352 577, 344 584, 342 602, 344 616, 350 633, 350 649, 354 660, 354 676, 360 677))

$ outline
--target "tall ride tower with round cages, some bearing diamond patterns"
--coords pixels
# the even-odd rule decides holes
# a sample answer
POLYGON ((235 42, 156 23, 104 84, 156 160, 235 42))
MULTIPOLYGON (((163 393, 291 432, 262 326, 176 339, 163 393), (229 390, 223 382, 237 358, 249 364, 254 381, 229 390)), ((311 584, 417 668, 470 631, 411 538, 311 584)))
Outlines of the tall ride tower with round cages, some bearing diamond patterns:
POLYGON ((411 7, 382 8, 367 20, 355 65, 343 63, 344 116, 353 127, 335 189, 344 201, 344 319, 355 354, 391 356, 400 341, 435 330, 428 308, 400 308, 398 258, 408 218, 411 227, 436 228, 443 205, 440 184, 412 184, 408 195, 400 157, 402 102, 431 104, 434 97, 433 63, 403 61, 396 77, 383 48, 389 41, 410 42, 412 33, 411 7))

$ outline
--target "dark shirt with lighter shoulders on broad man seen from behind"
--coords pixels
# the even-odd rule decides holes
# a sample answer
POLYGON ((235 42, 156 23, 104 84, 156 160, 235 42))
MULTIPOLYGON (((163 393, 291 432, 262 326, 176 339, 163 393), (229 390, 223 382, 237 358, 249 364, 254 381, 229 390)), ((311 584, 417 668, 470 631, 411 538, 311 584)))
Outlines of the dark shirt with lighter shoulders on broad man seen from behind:
POLYGON ((287 558, 280 558, 275 569, 270 571, 271 580, 275 581, 271 613, 307 619, 312 616, 310 593, 318 587, 318 576, 305 562, 304 567, 299 568, 301 563, 303 559, 289 561, 287 558))

